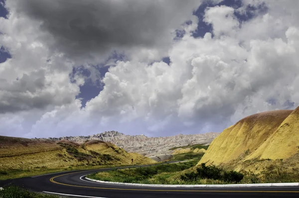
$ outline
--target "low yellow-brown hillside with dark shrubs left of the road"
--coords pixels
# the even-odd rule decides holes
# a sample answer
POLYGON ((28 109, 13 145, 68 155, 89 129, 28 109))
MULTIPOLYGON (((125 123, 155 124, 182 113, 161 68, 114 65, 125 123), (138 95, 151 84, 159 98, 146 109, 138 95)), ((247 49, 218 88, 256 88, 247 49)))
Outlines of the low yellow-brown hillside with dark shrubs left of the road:
POLYGON ((100 140, 78 144, 68 140, 0 136, 0 180, 74 167, 151 163, 155 161, 100 140))

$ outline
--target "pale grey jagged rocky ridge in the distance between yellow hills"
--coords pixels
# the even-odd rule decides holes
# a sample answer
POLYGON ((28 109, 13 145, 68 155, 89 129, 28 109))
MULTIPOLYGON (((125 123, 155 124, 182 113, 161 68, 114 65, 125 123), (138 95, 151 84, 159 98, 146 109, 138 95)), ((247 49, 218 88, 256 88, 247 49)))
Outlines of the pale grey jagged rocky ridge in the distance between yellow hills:
POLYGON ((159 154, 171 154, 172 147, 187 146, 191 144, 209 144, 219 133, 209 132, 204 134, 183 135, 178 134, 168 137, 147 137, 145 135, 125 135, 117 131, 106 131, 89 136, 68 136, 59 138, 48 138, 50 140, 70 140, 83 143, 86 140, 102 140, 124 148, 128 152, 136 152, 145 156, 159 154))

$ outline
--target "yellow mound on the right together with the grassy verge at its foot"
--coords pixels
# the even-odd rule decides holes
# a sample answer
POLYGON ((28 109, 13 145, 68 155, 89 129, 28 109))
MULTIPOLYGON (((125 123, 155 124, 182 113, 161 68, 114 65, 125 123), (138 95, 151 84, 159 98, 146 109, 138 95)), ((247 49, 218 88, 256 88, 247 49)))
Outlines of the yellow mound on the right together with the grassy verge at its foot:
POLYGON ((225 129, 208 146, 173 147, 156 167, 92 174, 97 180, 143 184, 299 182, 299 107, 257 113, 225 129))

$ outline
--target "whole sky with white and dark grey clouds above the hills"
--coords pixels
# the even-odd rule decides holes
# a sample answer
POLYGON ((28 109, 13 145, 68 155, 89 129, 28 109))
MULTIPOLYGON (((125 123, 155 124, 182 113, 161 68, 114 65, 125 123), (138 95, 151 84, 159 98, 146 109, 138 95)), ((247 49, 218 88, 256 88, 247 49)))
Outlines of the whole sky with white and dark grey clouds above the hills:
POLYGON ((221 132, 299 105, 299 1, 0 0, 0 135, 221 132))

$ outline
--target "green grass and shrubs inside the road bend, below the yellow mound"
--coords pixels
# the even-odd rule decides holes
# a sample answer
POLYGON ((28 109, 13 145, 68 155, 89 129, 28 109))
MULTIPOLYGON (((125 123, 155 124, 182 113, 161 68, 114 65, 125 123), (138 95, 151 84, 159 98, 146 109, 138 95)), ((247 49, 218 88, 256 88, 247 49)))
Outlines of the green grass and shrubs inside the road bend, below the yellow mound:
POLYGON ((299 182, 299 169, 287 169, 284 161, 277 160, 271 163, 259 174, 251 171, 232 171, 223 166, 197 166, 203 154, 182 153, 174 155, 174 159, 187 159, 177 164, 160 164, 152 167, 131 169, 114 169, 107 172, 91 174, 88 178, 110 182, 137 183, 137 184, 256 184, 256 183, 292 183, 299 182))

